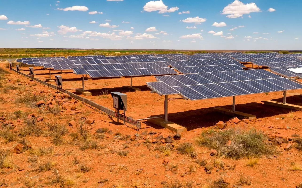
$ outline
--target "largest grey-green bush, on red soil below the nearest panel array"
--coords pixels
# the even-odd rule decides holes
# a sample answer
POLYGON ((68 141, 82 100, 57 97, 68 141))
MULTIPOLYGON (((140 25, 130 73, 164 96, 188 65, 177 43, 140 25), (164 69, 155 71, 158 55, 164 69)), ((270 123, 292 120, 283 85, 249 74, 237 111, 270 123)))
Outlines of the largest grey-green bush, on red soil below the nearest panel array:
POLYGON ((228 129, 223 131, 210 130, 202 132, 196 139, 200 146, 216 149, 218 156, 240 159, 244 157, 261 157, 275 153, 273 146, 265 143, 267 136, 261 131, 251 129, 249 131, 228 129), (231 140, 230 146, 226 142, 231 140))

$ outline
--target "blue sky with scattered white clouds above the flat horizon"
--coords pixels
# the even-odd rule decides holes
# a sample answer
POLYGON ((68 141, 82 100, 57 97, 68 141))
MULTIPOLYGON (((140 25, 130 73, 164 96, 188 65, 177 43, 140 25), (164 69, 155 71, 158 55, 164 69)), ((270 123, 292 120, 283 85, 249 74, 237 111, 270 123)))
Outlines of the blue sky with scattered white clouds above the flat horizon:
POLYGON ((301 0, 0 0, 0 47, 301 50, 301 0))

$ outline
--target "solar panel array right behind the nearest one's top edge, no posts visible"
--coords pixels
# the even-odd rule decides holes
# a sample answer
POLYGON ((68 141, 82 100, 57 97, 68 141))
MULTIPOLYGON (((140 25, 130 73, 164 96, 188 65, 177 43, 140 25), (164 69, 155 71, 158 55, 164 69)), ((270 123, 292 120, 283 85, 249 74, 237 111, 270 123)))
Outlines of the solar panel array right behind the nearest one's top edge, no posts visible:
POLYGON ((185 61, 169 61, 166 63, 168 63, 170 66, 184 74, 243 70, 241 68, 242 65, 239 62, 230 59, 199 59, 185 61))

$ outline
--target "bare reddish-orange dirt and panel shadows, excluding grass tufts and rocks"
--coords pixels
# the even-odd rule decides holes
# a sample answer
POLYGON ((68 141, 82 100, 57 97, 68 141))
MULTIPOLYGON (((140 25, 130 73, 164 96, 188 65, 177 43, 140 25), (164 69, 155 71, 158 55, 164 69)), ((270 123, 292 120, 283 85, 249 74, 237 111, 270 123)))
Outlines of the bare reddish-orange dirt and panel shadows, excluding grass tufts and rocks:
MULTIPOLYGON (((3 67, 3 66, 2 66, 3 67)), ((8 70, 8 69, 6 69, 8 70)), ((27 68, 24 68, 27 70, 27 68)), ((55 71, 52 71, 55 72, 55 71)), ((68 72, 68 71, 66 71, 68 72)), ((70 71, 69 71, 70 72, 70 71)), ((35 68, 36 78, 47 77, 48 70, 38 70, 35 68)), ((52 73, 56 75, 55 73, 52 73)), ((63 88, 81 88, 82 79, 73 73, 62 74, 63 76, 63 88)), ((41 78, 42 80, 45 78, 41 78)), ((164 109, 164 97, 158 94, 151 94, 150 89, 146 87, 146 82, 156 81, 153 76, 147 77, 133 77, 133 86, 141 88, 142 91, 129 92, 122 88, 123 85, 130 84, 130 78, 113 78, 113 79, 97 79, 86 80, 85 89, 93 93, 93 96, 87 97, 89 100, 113 109, 111 91, 119 91, 127 94, 128 111, 127 116, 131 116, 134 119, 146 118, 149 116, 162 116, 164 109), (106 94, 108 91, 108 94, 106 94), (103 94, 105 93, 105 94, 103 94)), ((91 139, 95 139, 99 145, 107 145, 106 148, 101 149, 87 149, 85 151, 79 150, 79 146, 83 144, 82 141, 73 142, 69 133, 64 136, 65 144, 56 146, 52 142, 51 136, 26 136, 26 139, 31 142, 32 147, 37 149, 39 146, 53 147, 53 153, 40 156, 36 163, 28 162, 28 157, 33 157, 29 151, 25 151, 21 154, 12 154, 12 163, 16 165, 13 169, 1 169, 1 179, 4 178, 5 185, 11 187, 22 187, 28 185, 28 182, 36 182, 35 187, 59 187, 59 183, 51 183, 51 180, 55 178, 53 169, 57 169, 62 176, 75 177, 80 172, 79 165, 73 165, 72 161, 74 157, 77 157, 80 164, 85 164, 88 167, 92 167, 90 172, 82 174, 79 178, 75 179, 75 184, 72 187, 113 187, 114 183, 120 183, 123 186, 120 187, 134 187, 133 184, 139 181, 139 187, 163 187, 161 181, 166 180, 168 183, 172 180, 179 179, 181 181, 189 182, 193 181, 193 187, 206 187, 217 178, 223 176, 226 182, 230 183, 230 187, 236 184, 240 176, 252 177, 252 184, 246 187, 295 187, 302 182, 302 171, 290 170, 291 162, 297 162, 301 164, 302 156, 301 152, 293 148, 290 152, 284 151, 283 148, 287 144, 282 144, 277 150, 280 151, 280 155, 273 159, 265 158, 265 156, 259 159, 259 164, 254 167, 248 167, 247 159, 233 160, 222 158, 225 165, 234 165, 234 170, 221 170, 216 171, 216 168, 212 171, 212 174, 206 174, 204 167, 196 166, 196 172, 191 175, 185 174, 181 177, 181 174, 188 172, 188 166, 190 164, 196 165, 193 158, 188 155, 177 154, 173 149, 171 156, 169 156, 169 163, 178 164, 177 174, 172 171, 165 171, 165 167, 162 165, 164 155, 159 151, 154 151, 156 144, 152 144, 150 149, 147 149, 146 144, 140 144, 135 146, 137 141, 126 142, 125 140, 115 139, 114 135, 105 133, 104 139, 96 139, 95 131, 101 127, 107 127, 113 132, 120 132, 123 135, 134 135, 135 133, 141 134, 142 132, 162 132, 162 135, 174 135, 172 131, 163 129, 162 127, 155 126, 149 123, 142 123, 142 129, 138 132, 133 129, 132 126, 117 125, 113 120, 105 114, 101 114, 92 108, 76 102, 77 110, 81 112, 75 115, 70 115, 70 110, 63 110, 62 115, 54 115, 52 113, 41 112, 39 108, 29 108, 24 104, 17 105, 14 103, 14 99, 20 96, 26 96, 32 93, 43 94, 46 98, 49 98, 52 94, 56 94, 55 90, 47 88, 34 81, 24 78, 21 75, 17 75, 14 72, 5 76, 3 85, 15 85, 18 89, 10 90, 9 93, 1 92, 0 96, 3 97, 0 112, 12 113, 16 110, 22 110, 28 113, 36 113, 38 116, 46 119, 53 119, 59 124, 66 125, 69 133, 76 132, 74 127, 68 126, 68 122, 72 119, 79 117, 87 117, 95 120, 93 129, 91 131, 91 139), (17 82, 20 79, 20 83, 17 82), (21 84, 21 85, 18 85, 21 84), (26 85, 28 84, 28 85, 26 85), (25 90, 28 88, 28 91, 25 90), (43 91, 43 93, 39 93, 43 91), (129 148, 125 148, 123 144, 127 144, 129 148), (117 153, 111 154, 111 150, 124 151, 128 150, 128 156, 119 156, 117 153), (159 158, 155 158, 158 154, 159 158), (45 161, 55 162, 52 170, 46 172, 37 171, 39 164, 45 161), (111 163, 112 166, 110 166, 111 163), (19 171, 18 168, 24 170, 19 171), (142 169, 142 170, 140 170, 142 169), (140 173, 136 173, 141 171, 140 173), (221 172, 225 173, 221 173, 221 172), (221 175, 222 174, 222 175, 221 175), (99 180, 107 178, 108 181, 104 183, 98 183, 99 180), (83 180, 88 180, 84 183, 83 180), (26 184, 27 183, 27 184, 26 184), (26 185, 25 185, 26 184, 26 185)), ((75 91, 75 90, 70 90, 75 91)), ((176 98, 178 95, 169 96, 169 98, 176 98)), ((184 99, 169 100, 169 120, 178 123, 182 126, 188 127, 188 132, 182 134, 182 139, 176 141, 176 143, 191 142, 194 145, 195 151, 198 153, 196 158, 205 159, 208 164, 212 164, 216 157, 210 156, 210 150, 205 147, 195 145, 195 139, 204 130, 217 129, 215 124, 218 121, 228 122, 228 128, 240 128, 240 129, 258 129, 265 132, 267 135, 271 135, 275 132, 281 135, 291 138, 293 134, 301 134, 301 111, 290 111, 288 109, 282 109, 278 107, 264 106, 261 101, 264 100, 282 100, 283 95, 281 92, 272 92, 268 94, 253 94, 246 96, 236 97, 236 110, 245 113, 254 114, 257 116, 256 120, 252 120, 249 123, 234 124, 228 122, 231 118, 213 111, 214 107, 231 108, 232 97, 206 99, 198 101, 187 101, 184 99), (295 118, 294 118, 295 117, 295 118), (276 119, 277 118, 277 119, 276 119), (290 126, 291 129, 281 129, 284 125, 290 126)), ((287 102, 290 104, 301 104, 301 90, 288 91, 287 102)), ((11 119, 14 123, 16 131, 24 126, 23 120, 17 122, 17 119, 11 119)), ((40 123, 43 125, 43 123, 40 123)), ((0 139, 0 149, 12 150, 17 141, 5 143, 4 139, 0 139)), ((290 142, 291 143, 291 142, 290 142)), ((0 182, 1 183, 1 182, 0 182)))

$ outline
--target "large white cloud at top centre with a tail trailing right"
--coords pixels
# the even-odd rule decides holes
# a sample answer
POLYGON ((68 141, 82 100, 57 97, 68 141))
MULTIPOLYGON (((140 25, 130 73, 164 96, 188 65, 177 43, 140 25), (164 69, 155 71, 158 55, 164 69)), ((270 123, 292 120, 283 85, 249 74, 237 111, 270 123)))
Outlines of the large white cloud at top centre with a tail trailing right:
POLYGON ((160 1, 150 1, 147 2, 146 5, 143 7, 144 11, 147 12, 153 12, 153 11, 159 11, 158 13, 167 13, 167 12, 175 12, 178 11, 178 7, 172 7, 168 8, 167 5, 165 5, 162 0, 160 1))

